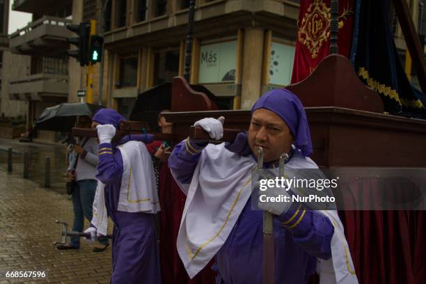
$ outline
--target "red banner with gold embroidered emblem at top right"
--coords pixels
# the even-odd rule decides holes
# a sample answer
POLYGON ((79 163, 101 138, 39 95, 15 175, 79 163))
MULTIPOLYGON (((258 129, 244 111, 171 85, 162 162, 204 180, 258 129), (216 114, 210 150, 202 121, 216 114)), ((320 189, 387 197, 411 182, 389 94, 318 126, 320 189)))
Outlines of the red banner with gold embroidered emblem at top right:
MULTIPOLYGON (((355 3, 355 0, 339 1, 338 50, 346 57, 352 45, 355 3)), ((330 0, 300 1, 292 84, 308 77, 329 55, 330 22, 330 0)))

